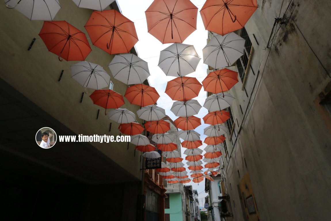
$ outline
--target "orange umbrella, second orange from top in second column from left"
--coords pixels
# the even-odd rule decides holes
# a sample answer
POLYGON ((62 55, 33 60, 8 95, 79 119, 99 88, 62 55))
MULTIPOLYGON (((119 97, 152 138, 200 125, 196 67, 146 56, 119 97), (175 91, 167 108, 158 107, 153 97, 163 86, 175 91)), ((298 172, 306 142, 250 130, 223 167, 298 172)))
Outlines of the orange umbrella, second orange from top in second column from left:
POLYGON ((145 107, 147 105, 156 104, 160 95, 154 87, 145 84, 136 84, 126 89, 124 97, 126 97, 131 104, 145 107))

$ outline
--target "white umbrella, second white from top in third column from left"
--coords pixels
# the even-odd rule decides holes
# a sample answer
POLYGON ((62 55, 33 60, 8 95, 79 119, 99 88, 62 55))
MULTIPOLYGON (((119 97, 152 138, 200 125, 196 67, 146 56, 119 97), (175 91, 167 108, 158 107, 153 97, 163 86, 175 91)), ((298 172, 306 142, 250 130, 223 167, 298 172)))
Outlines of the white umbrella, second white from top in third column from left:
POLYGON ((201 105, 197 100, 175 101, 170 111, 177 117, 189 117, 199 113, 201 105))

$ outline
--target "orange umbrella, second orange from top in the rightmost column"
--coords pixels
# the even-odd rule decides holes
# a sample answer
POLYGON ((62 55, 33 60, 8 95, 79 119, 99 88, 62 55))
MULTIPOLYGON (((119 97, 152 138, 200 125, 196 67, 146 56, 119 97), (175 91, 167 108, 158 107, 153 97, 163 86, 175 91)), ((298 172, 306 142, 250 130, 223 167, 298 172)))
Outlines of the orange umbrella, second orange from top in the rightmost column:
POLYGON ((205 91, 220 93, 230 90, 238 83, 238 72, 231 71, 227 68, 213 71, 202 81, 205 91))

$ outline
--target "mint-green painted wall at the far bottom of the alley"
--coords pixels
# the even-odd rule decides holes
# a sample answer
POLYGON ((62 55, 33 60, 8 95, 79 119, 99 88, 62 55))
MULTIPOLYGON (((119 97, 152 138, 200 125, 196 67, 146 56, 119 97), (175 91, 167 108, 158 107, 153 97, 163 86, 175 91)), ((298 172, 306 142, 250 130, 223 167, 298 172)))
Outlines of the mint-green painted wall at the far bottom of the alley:
POLYGON ((170 221, 183 220, 182 195, 181 193, 169 194, 169 209, 165 209, 165 213, 170 214, 170 221))

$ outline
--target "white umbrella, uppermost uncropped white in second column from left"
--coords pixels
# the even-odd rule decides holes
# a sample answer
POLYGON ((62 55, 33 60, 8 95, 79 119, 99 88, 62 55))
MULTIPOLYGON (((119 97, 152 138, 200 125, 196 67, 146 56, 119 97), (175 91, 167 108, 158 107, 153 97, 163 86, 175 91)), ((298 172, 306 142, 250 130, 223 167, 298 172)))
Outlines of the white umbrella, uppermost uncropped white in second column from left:
POLYGON ((150 76, 147 62, 134 54, 115 55, 108 67, 115 79, 127 85, 143 83, 150 76))

